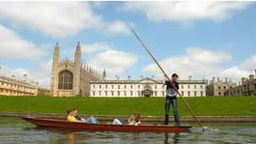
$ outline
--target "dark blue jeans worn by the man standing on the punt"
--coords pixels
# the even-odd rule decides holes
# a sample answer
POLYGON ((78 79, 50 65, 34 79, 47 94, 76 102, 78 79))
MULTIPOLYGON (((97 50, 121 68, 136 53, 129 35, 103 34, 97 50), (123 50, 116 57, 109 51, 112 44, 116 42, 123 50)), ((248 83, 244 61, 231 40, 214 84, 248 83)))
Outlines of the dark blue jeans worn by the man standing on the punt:
POLYGON ((170 104, 173 105, 173 114, 174 114, 175 123, 179 124, 179 115, 178 115, 178 110, 177 110, 177 98, 176 97, 169 97, 169 96, 166 96, 166 101, 165 101, 165 120, 164 120, 164 124, 168 125, 170 104))

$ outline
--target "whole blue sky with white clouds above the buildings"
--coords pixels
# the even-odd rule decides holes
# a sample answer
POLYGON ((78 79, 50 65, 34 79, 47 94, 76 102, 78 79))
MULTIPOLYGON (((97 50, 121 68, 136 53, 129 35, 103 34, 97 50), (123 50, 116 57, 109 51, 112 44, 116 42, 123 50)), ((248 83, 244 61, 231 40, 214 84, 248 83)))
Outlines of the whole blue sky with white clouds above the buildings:
POLYGON ((61 59, 83 61, 108 78, 157 78, 135 29, 157 60, 180 79, 231 77, 256 68, 256 3, 250 2, 0 2, 0 75, 48 88, 56 42, 61 59))

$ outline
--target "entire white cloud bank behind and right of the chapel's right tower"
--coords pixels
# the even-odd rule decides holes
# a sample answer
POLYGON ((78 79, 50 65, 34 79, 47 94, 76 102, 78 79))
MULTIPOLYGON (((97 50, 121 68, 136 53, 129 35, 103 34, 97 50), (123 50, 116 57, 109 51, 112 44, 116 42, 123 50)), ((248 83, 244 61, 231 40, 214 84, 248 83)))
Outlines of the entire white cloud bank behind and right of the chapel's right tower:
MULTIPOLYGON (((83 54, 86 54, 87 63, 98 72, 102 72, 105 68, 108 78, 121 75, 126 69, 133 67, 136 61, 138 61, 136 54, 116 50, 115 47, 109 45, 107 42, 96 42, 87 45, 81 44, 81 51, 83 54)), ((65 54, 69 55, 73 52, 73 49, 69 49, 65 51, 65 54)))

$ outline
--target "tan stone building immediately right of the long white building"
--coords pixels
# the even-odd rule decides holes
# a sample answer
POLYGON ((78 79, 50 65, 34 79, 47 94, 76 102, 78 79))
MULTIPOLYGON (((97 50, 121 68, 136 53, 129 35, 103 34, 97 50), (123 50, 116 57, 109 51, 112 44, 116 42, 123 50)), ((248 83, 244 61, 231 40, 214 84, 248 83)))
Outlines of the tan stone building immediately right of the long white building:
POLYGON ((222 82, 222 80, 220 80, 219 77, 217 78, 217 81, 215 77, 212 77, 212 80, 206 87, 206 95, 207 96, 227 96, 229 95, 227 90, 230 88, 234 88, 236 86, 237 86, 237 83, 233 83, 231 79, 227 81, 227 77, 225 82, 222 82))

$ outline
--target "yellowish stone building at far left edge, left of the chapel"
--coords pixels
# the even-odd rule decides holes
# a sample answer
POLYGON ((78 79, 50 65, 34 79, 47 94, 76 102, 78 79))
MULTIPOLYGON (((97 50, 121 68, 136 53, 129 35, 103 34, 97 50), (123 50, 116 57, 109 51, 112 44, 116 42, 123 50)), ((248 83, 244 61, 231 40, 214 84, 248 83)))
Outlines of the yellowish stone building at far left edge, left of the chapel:
POLYGON ((23 80, 12 77, 0 76, 0 95, 37 95, 39 83, 28 83, 27 75, 24 74, 23 80))

